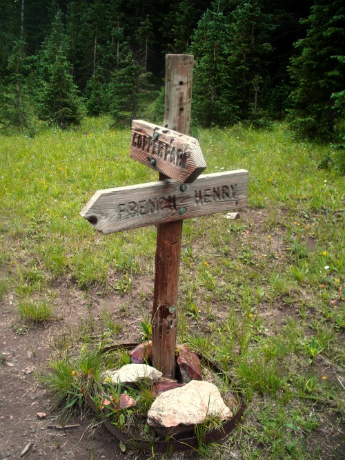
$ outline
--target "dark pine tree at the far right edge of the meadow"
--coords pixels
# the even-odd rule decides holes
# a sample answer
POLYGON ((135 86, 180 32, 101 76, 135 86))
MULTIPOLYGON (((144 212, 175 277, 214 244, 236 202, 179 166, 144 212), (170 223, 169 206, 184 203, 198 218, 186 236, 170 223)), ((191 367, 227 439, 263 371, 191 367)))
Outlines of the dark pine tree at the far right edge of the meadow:
POLYGON ((315 1, 303 21, 308 26, 307 36, 295 44, 299 55, 291 59, 290 68, 295 83, 290 125, 303 136, 329 138, 344 117, 345 65, 337 59, 344 55, 344 21, 341 0, 315 1))

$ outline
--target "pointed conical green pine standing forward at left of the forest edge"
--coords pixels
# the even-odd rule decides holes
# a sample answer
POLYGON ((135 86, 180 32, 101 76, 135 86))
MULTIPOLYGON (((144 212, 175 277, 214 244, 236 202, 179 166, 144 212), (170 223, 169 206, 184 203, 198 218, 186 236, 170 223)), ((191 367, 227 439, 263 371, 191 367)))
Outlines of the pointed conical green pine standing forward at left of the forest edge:
POLYGON ((40 85, 38 90, 39 117, 61 128, 79 124, 81 103, 77 86, 70 74, 66 34, 61 12, 55 16, 52 32, 43 43, 39 62, 40 85))

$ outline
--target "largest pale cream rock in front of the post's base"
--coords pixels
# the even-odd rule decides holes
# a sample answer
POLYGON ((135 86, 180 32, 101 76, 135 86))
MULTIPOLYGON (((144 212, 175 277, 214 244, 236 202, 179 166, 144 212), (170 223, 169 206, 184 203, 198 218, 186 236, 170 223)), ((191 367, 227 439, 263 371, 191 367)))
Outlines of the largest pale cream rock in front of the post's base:
POLYGON ((161 393, 148 411, 148 425, 165 436, 189 432, 206 418, 224 421, 233 417, 218 388, 192 380, 185 386, 161 393))

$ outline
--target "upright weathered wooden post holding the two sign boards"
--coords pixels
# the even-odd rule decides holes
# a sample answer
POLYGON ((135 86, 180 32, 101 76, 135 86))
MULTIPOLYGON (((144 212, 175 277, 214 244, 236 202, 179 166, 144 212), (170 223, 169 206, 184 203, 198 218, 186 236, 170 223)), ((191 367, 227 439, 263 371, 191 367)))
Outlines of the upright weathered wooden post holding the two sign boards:
MULTIPOLYGON (((164 128, 189 135, 194 57, 166 55, 164 128)), ((206 166, 206 165, 205 165, 206 166)), ((159 174, 159 179, 166 176, 159 174)), ((181 208, 180 212, 183 212, 181 208)), ((183 220, 157 227, 155 293, 152 308, 152 363, 164 377, 175 377, 177 297, 183 220)))

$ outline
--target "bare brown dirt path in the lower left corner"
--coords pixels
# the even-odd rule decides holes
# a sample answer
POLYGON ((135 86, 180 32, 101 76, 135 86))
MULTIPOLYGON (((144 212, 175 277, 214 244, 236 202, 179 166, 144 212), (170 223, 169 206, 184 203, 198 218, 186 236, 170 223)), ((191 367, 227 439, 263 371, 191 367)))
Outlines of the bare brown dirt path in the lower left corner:
MULTIPOLYGON (((0 366, 0 458, 19 458, 26 446, 25 459, 117 459, 123 458, 119 443, 100 426, 91 414, 61 419, 59 411, 53 410, 50 395, 35 379, 35 372, 46 368, 50 359, 50 346, 59 339, 68 339, 70 331, 79 327, 80 321, 88 321, 90 314, 97 317, 104 310, 119 312, 126 297, 112 295, 108 299, 85 299, 82 292, 62 287, 59 290, 55 314, 61 318, 47 321, 39 326, 25 326, 18 322, 14 299, 6 296, 0 308, 0 356, 6 362, 0 366), (92 301, 90 307, 90 301, 92 301), (15 331, 17 330, 17 332, 15 331), (38 412, 46 417, 39 419, 38 412), (49 426, 77 425, 75 428, 58 430, 49 426)), ((128 328, 134 319, 126 322, 119 340, 138 339, 136 328, 128 328), (127 332, 131 330, 132 334, 127 332)), ((134 452, 126 458, 140 457, 134 452)))

